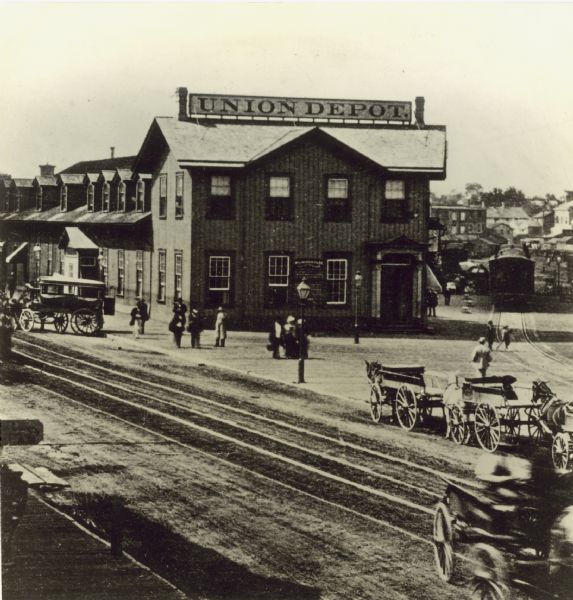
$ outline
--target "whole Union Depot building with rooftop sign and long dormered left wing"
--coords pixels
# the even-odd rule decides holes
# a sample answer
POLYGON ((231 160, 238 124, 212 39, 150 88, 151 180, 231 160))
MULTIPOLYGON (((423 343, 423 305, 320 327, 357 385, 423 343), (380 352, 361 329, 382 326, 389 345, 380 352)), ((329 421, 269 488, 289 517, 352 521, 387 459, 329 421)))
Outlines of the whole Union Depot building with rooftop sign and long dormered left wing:
POLYGON ((0 278, 98 278, 116 304, 172 301, 268 328, 311 288, 318 329, 425 326, 432 180, 446 128, 410 102, 190 94, 137 154, 0 179, 0 278))

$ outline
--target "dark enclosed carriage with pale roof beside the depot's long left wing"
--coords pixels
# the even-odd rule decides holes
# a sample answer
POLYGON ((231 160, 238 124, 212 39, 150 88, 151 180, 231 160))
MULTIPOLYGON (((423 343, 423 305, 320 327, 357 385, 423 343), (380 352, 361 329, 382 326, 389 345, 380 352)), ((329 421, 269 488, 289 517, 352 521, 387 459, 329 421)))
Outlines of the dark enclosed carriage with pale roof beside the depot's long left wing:
POLYGON ((24 331, 34 325, 52 324, 58 333, 68 325, 74 333, 95 335, 103 327, 103 315, 113 315, 114 298, 105 295, 106 287, 95 279, 76 279, 63 275, 40 277, 37 288, 28 286, 27 300, 20 312, 24 331))

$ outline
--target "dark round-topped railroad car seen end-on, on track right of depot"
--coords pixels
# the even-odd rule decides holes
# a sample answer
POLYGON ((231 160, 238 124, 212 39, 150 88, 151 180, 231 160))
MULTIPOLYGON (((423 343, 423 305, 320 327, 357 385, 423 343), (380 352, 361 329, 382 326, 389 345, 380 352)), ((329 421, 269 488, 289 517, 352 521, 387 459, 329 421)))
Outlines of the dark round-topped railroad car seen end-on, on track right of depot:
POLYGON ((520 307, 535 293, 535 262, 527 250, 508 244, 489 261, 489 288, 496 306, 520 307))

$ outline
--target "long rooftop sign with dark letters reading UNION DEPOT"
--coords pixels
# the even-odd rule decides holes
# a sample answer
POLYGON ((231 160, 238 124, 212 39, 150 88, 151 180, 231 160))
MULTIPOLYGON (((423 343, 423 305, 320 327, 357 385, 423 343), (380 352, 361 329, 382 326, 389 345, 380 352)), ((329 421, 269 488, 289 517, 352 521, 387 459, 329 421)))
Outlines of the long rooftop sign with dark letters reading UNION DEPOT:
POLYGON ((219 117, 322 118, 410 122, 411 102, 317 100, 271 96, 189 95, 189 115, 219 117))

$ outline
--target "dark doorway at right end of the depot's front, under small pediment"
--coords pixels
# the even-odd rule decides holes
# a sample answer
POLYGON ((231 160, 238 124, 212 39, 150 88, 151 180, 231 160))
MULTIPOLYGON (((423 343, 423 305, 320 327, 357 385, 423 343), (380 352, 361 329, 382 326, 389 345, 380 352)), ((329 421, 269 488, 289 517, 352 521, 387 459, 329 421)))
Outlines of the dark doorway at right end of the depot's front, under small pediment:
POLYGON ((380 277, 380 318, 388 325, 411 323, 414 260, 407 254, 387 254, 380 277))

